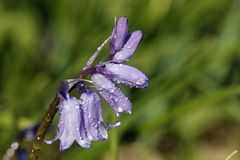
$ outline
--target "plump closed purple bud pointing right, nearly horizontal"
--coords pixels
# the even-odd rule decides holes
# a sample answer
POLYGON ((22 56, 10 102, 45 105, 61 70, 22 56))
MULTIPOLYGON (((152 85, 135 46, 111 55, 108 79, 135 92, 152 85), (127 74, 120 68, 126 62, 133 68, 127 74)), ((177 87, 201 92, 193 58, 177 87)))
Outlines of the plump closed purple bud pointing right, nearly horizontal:
POLYGON ((130 87, 144 88, 148 86, 147 76, 137 68, 128 65, 105 63, 102 67, 99 66, 97 71, 108 75, 113 81, 130 87))

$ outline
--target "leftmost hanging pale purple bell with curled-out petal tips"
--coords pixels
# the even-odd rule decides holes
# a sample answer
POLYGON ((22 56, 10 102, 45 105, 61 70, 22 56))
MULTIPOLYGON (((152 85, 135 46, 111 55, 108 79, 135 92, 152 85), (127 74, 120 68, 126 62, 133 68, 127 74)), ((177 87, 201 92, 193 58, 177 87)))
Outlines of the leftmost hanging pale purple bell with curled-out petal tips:
POLYGON ((60 139, 60 150, 69 148, 74 141, 84 148, 90 147, 91 142, 86 135, 80 104, 81 101, 75 97, 68 96, 61 100, 58 106, 60 117, 57 135, 46 143, 51 144, 60 139))

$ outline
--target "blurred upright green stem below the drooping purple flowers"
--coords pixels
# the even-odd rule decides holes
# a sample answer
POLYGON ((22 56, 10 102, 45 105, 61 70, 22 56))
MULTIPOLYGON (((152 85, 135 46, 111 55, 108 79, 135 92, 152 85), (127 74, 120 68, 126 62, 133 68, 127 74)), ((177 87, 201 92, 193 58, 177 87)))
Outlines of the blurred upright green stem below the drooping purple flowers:
MULTIPOLYGON (((112 118, 116 121, 116 118, 112 118)), ((110 149, 111 149, 111 160, 118 160, 118 128, 111 129, 110 131, 110 149)))

